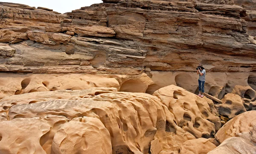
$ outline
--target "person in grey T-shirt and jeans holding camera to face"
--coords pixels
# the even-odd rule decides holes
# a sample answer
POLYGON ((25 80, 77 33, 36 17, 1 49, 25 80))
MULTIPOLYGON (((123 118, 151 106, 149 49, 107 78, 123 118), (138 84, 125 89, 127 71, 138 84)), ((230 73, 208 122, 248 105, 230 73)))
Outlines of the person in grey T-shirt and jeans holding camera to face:
POLYGON ((204 97, 204 83, 205 83, 205 74, 206 71, 203 67, 203 65, 199 65, 197 68, 197 74, 199 74, 199 79, 198 79, 198 88, 199 88, 199 97, 204 97))

